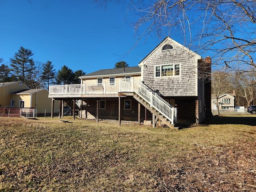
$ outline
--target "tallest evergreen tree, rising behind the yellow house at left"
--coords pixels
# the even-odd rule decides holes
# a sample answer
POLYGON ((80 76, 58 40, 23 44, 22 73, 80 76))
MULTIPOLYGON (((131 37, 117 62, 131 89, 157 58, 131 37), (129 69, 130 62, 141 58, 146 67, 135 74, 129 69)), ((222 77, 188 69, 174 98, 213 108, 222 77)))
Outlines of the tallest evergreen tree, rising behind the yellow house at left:
POLYGON ((34 62, 30 58, 33 55, 31 50, 20 47, 14 58, 10 58, 11 71, 20 81, 25 82, 26 76, 31 75, 34 70, 34 62))

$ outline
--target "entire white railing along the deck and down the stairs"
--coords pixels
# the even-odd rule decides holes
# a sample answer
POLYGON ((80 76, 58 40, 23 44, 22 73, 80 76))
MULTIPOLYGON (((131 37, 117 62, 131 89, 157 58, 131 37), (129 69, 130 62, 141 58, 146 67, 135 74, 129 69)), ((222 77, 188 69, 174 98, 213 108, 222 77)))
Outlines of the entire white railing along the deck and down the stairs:
POLYGON ((49 86, 50 95, 72 95, 72 94, 118 94, 118 92, 135 92, 150 106, 154 107, 168 120, 174 124, 177 122, 177 109, 171 106, 166 100, 153 92, 142 82, 133 78, 120 79, 117 83, 102 84, 72 84, 49 86))

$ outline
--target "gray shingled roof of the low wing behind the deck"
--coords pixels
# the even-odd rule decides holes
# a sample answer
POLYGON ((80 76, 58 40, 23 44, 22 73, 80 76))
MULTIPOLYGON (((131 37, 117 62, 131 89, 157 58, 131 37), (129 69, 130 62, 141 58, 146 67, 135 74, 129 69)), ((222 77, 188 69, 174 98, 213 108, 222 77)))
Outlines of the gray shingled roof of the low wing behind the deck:
POLYGON ((98 70, 83 76, 83 77, 91 77, 91 76, 110 76, 110 75, 120 75, 120 74, 138 74, 141 72, 141 68, 138 66, 135 67, 126 67, 126 68, 113 68, 113 69, 102 69, 98 70))

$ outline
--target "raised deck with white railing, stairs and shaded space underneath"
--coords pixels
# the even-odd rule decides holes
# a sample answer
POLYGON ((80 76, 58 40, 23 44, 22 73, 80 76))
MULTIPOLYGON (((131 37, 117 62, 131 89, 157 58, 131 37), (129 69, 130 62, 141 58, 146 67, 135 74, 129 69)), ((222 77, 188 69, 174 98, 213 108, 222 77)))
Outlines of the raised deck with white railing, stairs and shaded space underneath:
POLYGON ((64 102, 81 118, 161 121, 172 127, 177 120, 177 110, 142 82, 134 79, 120 80, 115 84, 72 84, 50 86, 52 106, 60 102, 59 117, 63 116, 64 102))

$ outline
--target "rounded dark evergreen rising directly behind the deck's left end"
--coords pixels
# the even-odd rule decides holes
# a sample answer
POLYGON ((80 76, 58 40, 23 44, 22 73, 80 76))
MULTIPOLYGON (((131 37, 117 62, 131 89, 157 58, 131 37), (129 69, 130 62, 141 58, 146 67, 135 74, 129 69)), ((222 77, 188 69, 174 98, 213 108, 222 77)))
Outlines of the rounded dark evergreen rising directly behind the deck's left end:
POLYGON ((74 72, 64 65, 61 70, 58 70, 56 81, 58 84, 72 84, 74 76, 74 72))

